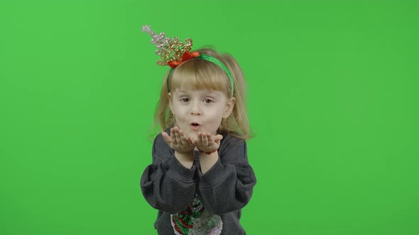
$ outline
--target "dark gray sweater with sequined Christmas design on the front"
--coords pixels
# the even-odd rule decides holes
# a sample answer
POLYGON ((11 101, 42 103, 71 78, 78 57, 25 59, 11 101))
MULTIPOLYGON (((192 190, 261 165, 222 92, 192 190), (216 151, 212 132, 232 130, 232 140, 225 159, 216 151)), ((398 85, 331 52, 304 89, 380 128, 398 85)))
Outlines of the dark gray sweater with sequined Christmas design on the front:
POLYGON ((217 163, 202 174, 197 151, 192 168, 185 168, 161 134, 154 139, 153 163, 141 176, 141 191, 158 210, 158 234, 246 234, 241 208, 256 184, 246 142, 225 135, 218 153, 217 163))

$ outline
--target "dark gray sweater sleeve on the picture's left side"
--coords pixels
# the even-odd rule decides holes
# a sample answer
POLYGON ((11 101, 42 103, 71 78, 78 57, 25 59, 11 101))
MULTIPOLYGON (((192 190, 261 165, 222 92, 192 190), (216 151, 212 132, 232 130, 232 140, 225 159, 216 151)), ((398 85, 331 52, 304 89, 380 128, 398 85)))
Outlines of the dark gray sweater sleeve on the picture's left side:
POLYGON ((186 168, 173 149, 158 134, 153 143, 153 163, 141 176, 141 191, 153 208, 175 214, 184 210, 195 196, 195 168, 186 168))

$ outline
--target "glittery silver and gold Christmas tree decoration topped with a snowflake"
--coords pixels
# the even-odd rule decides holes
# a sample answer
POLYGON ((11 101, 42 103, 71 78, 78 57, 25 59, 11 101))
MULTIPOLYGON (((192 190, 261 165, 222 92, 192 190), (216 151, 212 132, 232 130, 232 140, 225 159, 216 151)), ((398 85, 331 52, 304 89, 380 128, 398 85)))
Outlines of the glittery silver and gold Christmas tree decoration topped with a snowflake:
POLYGON ((143 25, 143 32, 151 35, 151 44, 156 45, 156 55, 159 59, 156 63, 161 66, 168 65, 172 61, 181 61, 183 53, 192 49, 192 39, 186 38, 181 42, 178 37, 167 38, 165 33, 156 34, 151 30, 150 25, 143 25))

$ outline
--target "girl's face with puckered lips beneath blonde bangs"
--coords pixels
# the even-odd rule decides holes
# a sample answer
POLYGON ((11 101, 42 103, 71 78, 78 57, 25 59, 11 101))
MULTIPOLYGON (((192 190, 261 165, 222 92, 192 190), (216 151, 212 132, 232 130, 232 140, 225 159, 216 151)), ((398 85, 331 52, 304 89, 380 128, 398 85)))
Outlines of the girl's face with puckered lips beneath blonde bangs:
POLYGON ((169 93, 169 103, 175 114, 176 125, 192 139, 197 132, 217 134, 223 117, 228 117, 234 107, 234 98, 221 91, 178 89, 169 93))

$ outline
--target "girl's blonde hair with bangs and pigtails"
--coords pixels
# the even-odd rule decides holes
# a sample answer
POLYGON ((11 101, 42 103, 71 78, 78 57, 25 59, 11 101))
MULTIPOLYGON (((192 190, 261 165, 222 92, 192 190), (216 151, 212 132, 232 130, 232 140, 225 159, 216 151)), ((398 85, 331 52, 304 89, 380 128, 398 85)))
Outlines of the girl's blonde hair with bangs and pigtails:
MULTIPOLYGON (((223 62, 234 81, 234 93, 236 98, 232 114, 223 121, 219 127, 219 134, 229 134, 240 139, 251 138, 249 119, 246 113, 245 101, 245 83, 243 71, 236 59, 229 54, 219 54, 212 49, 197 50, 200 54, 210 55, 223 62)), ((170 74, 169 71, 163 79, 163 86, 160 92, 160 100, 156 106, 154 115, 154 126, 159 125, 161 130, 173 127, 175 125, 175 118, 169 108, 168 92, 176 89, 190 88, 193 90, 209 89, 214 91, 222 91, 227 97, 232 97, 232 87, 229 78, 224 70, 217 64, 209 62, 205 59, 190 59, 183 64, 180 64, 170 74), (168 80, 168 76, 170 78, 168 80)))

